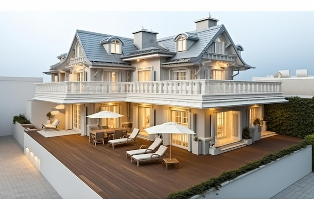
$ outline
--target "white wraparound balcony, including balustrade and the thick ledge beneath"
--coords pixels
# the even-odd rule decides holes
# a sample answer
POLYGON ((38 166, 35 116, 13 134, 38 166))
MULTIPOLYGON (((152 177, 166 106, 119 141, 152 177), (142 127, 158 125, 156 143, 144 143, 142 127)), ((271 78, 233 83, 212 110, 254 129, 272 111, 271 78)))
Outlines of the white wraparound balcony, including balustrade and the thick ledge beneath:
POLYGON ((191 108, 286 102, 279 82, 234 80, 40 83, 33 99, 61 104, 125 101, 191 108))

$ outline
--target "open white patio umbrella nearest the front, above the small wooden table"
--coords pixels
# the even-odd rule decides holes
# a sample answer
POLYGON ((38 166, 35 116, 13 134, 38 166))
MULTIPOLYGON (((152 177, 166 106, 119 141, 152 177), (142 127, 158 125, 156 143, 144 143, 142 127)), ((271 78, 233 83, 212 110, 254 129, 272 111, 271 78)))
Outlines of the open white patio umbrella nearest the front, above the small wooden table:
MULTIPOLYGON (((152 126, 149 128, 145 128, 148 134, 195 134, 193 130, 181 125, 177 124, 176 122, 166 122, 160 125, 152 126)), ((170 159, 171 159, 171 143, 172 143, 172 136, 170 136, 170 159)))

